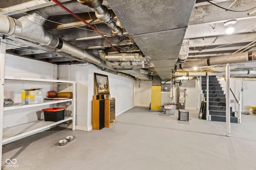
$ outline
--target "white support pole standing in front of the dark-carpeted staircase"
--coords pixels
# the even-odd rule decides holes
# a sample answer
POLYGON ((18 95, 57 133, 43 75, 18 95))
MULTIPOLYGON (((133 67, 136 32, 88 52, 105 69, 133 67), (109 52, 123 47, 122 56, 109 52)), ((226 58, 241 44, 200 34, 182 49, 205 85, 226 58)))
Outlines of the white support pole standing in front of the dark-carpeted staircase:
POLYGON ((226 65, 226 136, 230 137, 230 66, 226 65))

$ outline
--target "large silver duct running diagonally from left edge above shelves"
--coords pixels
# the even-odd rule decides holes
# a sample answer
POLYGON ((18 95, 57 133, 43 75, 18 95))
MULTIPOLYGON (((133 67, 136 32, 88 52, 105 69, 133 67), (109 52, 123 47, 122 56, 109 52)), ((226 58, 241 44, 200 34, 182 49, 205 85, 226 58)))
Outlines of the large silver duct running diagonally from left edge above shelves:
POLYGON ((32 13, 30 15, 23 16, 18 20, 9 16, 0 15, 0 22, 2 23, 0 33, 14 35, 22 39, 38 42, 76 56, 84 61, 88 61, 110 70, 116 70, 115 68, 106 65, 102 59, 88 51, 63 40, 56 35, 46 32, 43 27, 45 20, 39 14, 32 13), (33 25, 33 27, 31 27, 31 25, 33 25))

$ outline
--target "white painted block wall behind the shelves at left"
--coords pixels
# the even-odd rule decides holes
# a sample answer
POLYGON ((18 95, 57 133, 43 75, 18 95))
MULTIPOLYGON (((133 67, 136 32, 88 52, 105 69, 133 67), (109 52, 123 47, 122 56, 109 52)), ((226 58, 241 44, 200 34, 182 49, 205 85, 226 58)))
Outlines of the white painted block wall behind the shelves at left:
MULTIPOLYGON (((46 63, 6 54, 5 75, 14 78, 43 78, 54 79, 57 73, 55 64, 46 63)), ((27 88, 43 88, 44 98, 46 92, 53 90, 53 84, 48 82, 31 82, 20 80, 6 80, 4 84, 4 98, 11 98, 14 103, 21 103, 21 90, 27 88)), ((52 107, 50 105, 44 108, 52 107)), ((11 127, 43 118, 42 107, 16 109, 4 111, 3 127, 11 127)))

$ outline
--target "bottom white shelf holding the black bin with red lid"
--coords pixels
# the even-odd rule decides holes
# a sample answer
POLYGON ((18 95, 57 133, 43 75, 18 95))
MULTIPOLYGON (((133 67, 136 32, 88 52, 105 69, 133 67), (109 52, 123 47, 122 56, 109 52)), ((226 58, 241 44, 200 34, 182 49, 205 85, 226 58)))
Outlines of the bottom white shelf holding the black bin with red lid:
POLYGON ((57 122, 44 121, 44 119, 42 119, 42 120, 32 121, 29 123, 24 123, 21 125, 16 125, 13 127, 4 128, 2 145, 16 141, 18 139, 22 139, 24 137, 38 133, 40 131, 45 131, 55 125, 58 125, 68 120, 72 120, 72 118, 73 117, 71 116, 65 116, 64 120, 60 120, 57 122))

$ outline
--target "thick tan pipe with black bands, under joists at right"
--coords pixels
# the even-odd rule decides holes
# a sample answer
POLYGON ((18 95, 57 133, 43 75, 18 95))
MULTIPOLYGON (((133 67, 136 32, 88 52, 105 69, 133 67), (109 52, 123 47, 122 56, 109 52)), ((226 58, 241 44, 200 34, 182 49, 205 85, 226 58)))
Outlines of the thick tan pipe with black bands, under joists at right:
POLYGON ((224 55, 224 56, 212 57, 208 59, 200 59, 196 61, 187 61, 185 63, 176 65, 176 68, 185 69, 185 68, 213 66, 213 65, 227 64, 227 63, 239 63, 242 61, 254 61, 254 60, 256 60, 256 51, 247 51, 244 53, 236 53, 232 55, 224 55))

